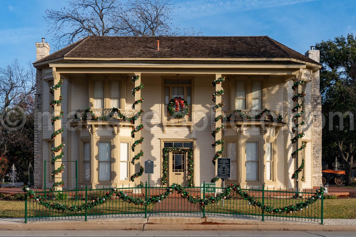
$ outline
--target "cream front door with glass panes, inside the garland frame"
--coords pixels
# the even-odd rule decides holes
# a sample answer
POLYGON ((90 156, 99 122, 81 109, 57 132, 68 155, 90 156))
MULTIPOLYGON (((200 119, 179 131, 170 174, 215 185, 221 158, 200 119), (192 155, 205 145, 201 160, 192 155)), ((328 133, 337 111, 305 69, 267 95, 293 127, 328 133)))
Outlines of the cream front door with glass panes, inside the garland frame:
POLYGON ((187 186, 186 182, 186 153, 171 152, 169 155, 169 185, 173 183, 187 186))

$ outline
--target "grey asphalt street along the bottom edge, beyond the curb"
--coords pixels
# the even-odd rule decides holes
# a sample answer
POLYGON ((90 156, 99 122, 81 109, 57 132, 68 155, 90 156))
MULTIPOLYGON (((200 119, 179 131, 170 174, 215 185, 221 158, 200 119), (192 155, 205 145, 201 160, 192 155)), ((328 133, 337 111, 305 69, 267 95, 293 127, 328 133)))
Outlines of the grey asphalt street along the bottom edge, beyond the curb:
MULTIPOLYGON (((65 227, 64 227, 65 228, 65 227)), ((42 237, 42 236, 55 236, 55 237, 111 237, 111 236, 125 236, 125 237, 200 237, 200 236, 211 236, 211 237, 243 237, 243 236, 253 236, 253 237, 356 237, 356 232, 340 232, 340 231, 323 231, 323 232, 312 232, 312 231, 135 231, 135 230, 52 230, 52 231, 15 231, 15 230, 2 230, 0 231, 0 236, 11 236, 11 237, 42 237)))

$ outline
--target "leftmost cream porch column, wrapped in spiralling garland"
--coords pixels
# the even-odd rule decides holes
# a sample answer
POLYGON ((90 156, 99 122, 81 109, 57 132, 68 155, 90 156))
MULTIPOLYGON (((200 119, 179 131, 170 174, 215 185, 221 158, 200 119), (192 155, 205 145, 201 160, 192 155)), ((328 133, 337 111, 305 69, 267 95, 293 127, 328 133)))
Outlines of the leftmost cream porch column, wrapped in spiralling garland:
MULTIPOLYGON (((53 74, 53 85, 57 85, 59 81, 61 80, 61 76, 59 75, 59 72, 56 72, 56 68, 52 68, 52 74, 53 74)), ((61 96, 61 87, 58 87, 54 90, 53 92, 53 97, 55 101, 59 100, 59 96, 61 96)), ((54 131, 58 131, 59 129, 62 128, 62 115, 61 115, 61 103, 56 103, 53 108, 54 111, 54 117, 58 116, 60 119, 54 120, 53 122, 53 128, 54 131)), ((62 144, 62 134, 59 133, 56 135, 56 138, 53 140, 53 146, 54 148, 61 146, 62 144)), ((62 152, 62 149, 59 149, 57 152, 54 152, 54 156, 60 155, 62 152)), ((57 159, 56 162, 54 162, 54 169, 57 170, 59 167, 61 167, 61 161, 62 159, 57 159)), ((58 172, 54 176, 54 182, 61 182, 62 181, 62 173, 58 172)), ((62 187, 61 186, 54 186, 53 187, 56 191, 61 191, 62 187)))

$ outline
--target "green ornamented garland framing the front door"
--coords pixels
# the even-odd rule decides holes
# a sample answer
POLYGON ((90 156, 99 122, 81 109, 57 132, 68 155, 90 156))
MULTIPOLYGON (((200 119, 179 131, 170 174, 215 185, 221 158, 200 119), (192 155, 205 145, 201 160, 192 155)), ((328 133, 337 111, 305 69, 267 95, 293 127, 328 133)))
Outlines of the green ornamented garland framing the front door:
POLYGON ((163 162, 162 162, 162 177, 161 177, 161 182, 162 185, 166 185, 168 181, 168 155, 169 152, 187 152, 188 157, 187 157, 187 168, 188 168, 188 186, 193 187, 194 186, 194 158, 193 158, 193 148, 180 148, 180 147, 164 147, 162 149, 162 157, 163 157, 163 162))

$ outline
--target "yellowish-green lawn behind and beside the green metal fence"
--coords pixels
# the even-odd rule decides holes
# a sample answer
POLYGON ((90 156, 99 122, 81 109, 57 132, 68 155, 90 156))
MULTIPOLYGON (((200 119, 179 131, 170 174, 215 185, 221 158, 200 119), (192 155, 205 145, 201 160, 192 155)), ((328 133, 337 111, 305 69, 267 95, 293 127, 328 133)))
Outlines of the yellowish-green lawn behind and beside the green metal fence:
MULTIPOLYGON (((273 205, 276 207, 282 207, 295 203, 295 200, 293 199, 267 199, 265 201, 266 203, 268 203, 268 201, 270 202, 268 205, 273 205)), ((74 204, 74 201, 68 201, 65 204, 72 205, 72 203, 74 204)), ((314 208, 320 208, 320 203, 321 202, 318 201, 318 204, 315 204, 315 206, 310 206, 308 209, 303 210, 303 212, 294 213, 293 216, 316 216, 316 213, 314 213, 314 208)), ((62 212, 49 211, 42 206, 37 205, 37 203, 33 201, 29 201, 28 204, 28 216, 47 216, 49 214, 57 216, 62 215, 62 212)), ((150 205, 148 206, 147 210, 150 211, 152 208, 153 205, 150 205)), ((24 201, 0 201, 0 217, 23 217, 24 209, 24 201)), ((259 209, 251 205, 246 205, 246 201, 241 199, 225 200, 225 206, 222 206, 221 203, 220 205, 214 204, 206 206, 205 210, 224 213, 261 214, 259 209)), ((145 208, 143 206, 125 203, 121 200, 110 200, 110 202, 106 202, 103 205, 88 210, 88 214, 129 214, 144 211, 145 208)), ((324 200, 324 218, 356 219, 356 198, 324 200)))

